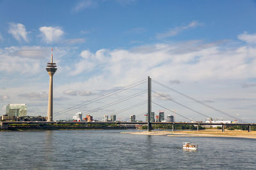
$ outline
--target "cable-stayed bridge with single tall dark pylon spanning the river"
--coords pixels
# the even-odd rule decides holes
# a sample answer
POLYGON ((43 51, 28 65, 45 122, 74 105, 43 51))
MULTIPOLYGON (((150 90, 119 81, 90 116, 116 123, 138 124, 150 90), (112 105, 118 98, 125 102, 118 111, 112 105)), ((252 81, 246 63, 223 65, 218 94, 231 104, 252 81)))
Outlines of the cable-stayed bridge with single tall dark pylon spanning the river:
MULTIPOLYGON (((190 125, 191 124, 191 125, 197 125, 197 127, 198 127, 198 125, 222 125, 222 127, 224 127, 225 125, 229 125, 229 124, 223 124, 223 123, 212 124, 212 123, 198 122, 196 120, 193 120, 193 118, 188 118, 188 117, 184 116, 184 114, 182 114, 182 113, 171 110, 168 106, 164 106, 164 104, 161 104, 159 101, 152 100, 152 93, 153 93, 156 96, 161 97, 165 101, 169 101, 170 103, 173 103, 176 106, 180 106, 182 108, 185 108, 186 110, 189 110, 191 113, 193 112, 196 115, 200 115, 200 117, 204 117, 204 118, 210 118, 211 117, 211 115, 206 115, 205 113, 202 113, 202 111, 195 110, 195 108, 191 108, 191 106, 187 106, 186 104, 175 101, 171 97, 168 97, 164 94, 161 94, 160 92, 156 92, 156 90, 152 90, 152 88, 151 88, 152 87, 151 86, 152 82, 154 84, 157 84, 157 85, 163 87, 166 90, 169 90, 170 92, 174 92, 175 94, 178 94, 179 96, 185 97, 186 99, 189 99, 190 101, 193 101, 197 104, 201 104, 202 106, 204 106, 206 108, 209 108, 212 111, 216 111, 216 112, 220 113, 221 115, 223 115, 225 117, 240 120, 239 121, 240 123, 230 124, 230 125, 248 125, 249 130, 250 130, 251 125, 255 125, 255 124, 251 124, 251 123, 249 124, 248 122, 244 122, 244 121, 241 120, 241 118, 237 118, 231 113, 227 113, 227 112, 222 111, 218 108, 214 108, 213 106, 210 106, 209 104, 205 104, 202 101, 199 101, 198 99, 195 99, 194 97, 191 97, 191 96, 188 96, 188 95, 186 95, 182 92, 179 92, 178 90, 175 90, 172 87, 168 87, 167 85, 164 85, 163 83, 160 83, 159 81, 152 80, 150 77, 148 77, 147 79, 144 79, 144 80, 136 81, 135 83, 132 83, 132 84, 127 85, 125 87, 120 87, 118 89, 112 90, 111 92, 107 92, 106 94, 103 94, 99 97, 95 97, 95 98, 90 99, 88 101, 84 101, 82 103, 79 103, 79 104, 76 104, 74 106, 70 106, 70 107, 65 108, 63 110, 60 110, 60 111, 54 113, 53 117, 56 117, 56 116, 60 117, 60 116, 66 115, 67 113, 70 113, 70 111, 74 111, 74 110, 77 110, 79 108, 83 108, 84 106, 88 106, 88 105, 93 104, 93 103, 97 103, 99 101, 102 101, 103 99, 108 99, 109 97, 114 97, 114 96, 116 96, 116 95, 118 95, 122 92, 137 88, 139 85, 143 85, 143 84, 147 83, 147 89, 140 90, 139 92, 136 92, 134 94, 129 93, 130 94, 129 96, 123 97, 122 99, 116 99, 115 101, 111 101, 108 104, 104 104, 104 105, 99 106, 97 108, 93 108, 92 110, 86 111, 85 114, 86 115, 91 114, 91 115, 93 115, 93 117, 96 117, 97 115, 95 115, 95 114, 99 111, 106 110, 107 108, 111 108, 111 107, 116 106, 118 104, 125 103, 126 101, 134 99, 135 97, 139 97, 139 96, 147 94, 147 99, 144 98, 139 103, 136 103, 136 104, 133 104, 132 106, 125 107, 125 108, 122 108, 120 110, 114 111, 109 115, 121 115, 125 111, 130 111, 130 110, 133 110, 134 108, 144 106, 144 108, 145 108, 144 111, 141 111, 142 113, 136 115, 136 117, 141 117, 141 116, 144 116, 146 114, 147 117, 149 117, 147 119, 148 122, 127 122, 127 121, 125 121, 125 122, 100 122, 100 121, 98 121, 98 122, 90 122, 90 124, 113 124, 113 123, 122 124, 122 125, 138 125, 138 124, 143 125, 143 124, 147 124, 148 125, 148 131, 151 131, 151 129, 152 129, 151 125, 152 124, 172 124, 172 125, 175 125, 175 124, 189 124, 190 125), (152 113, 152 104, 154 104, 154 106, 162 108, 163 110, 170 111, 173 114, 178 115, 179 117, 184 118, 185 120, 188 120, 189 122, 150 122, 150 113, 152 113)), ((33 122, 33 123, 35 123, 35 122, 33 122)), ((47 123, 52 124, 52 123, 56 123, 56 122, 47 122, 47 123)), ((86 124, 86 122, 61 122, 61 124, 74 124, 74 123, 76 123, 76 124, 86 124)), ((12 122, 4 122, 3 124, 13 124, 13 123, 12 122)), ((3 124, 1 123, 1 125, 3 125, 3 124)), ((36 122, 35 124, 40 124, 40 122, 36 122)), ((224 131, 224 128, 222 128, 222 129, 224 131)))

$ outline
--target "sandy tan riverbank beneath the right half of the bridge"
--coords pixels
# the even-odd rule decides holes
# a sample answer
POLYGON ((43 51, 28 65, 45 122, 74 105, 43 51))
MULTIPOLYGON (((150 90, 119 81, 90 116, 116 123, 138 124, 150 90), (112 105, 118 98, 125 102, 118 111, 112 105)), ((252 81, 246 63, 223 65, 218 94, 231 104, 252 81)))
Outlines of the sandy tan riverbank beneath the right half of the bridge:
POLYGON ((164 136, 182 136, 182 137, 230 137, 230 138, 251 138, 256 139, 256 131, 228 131, 221 132, 221 130, 201 130, 196 131, 142 131, 142 132, 123 132, 128 134, 141 134, 141 135, 164 135, 164 136))

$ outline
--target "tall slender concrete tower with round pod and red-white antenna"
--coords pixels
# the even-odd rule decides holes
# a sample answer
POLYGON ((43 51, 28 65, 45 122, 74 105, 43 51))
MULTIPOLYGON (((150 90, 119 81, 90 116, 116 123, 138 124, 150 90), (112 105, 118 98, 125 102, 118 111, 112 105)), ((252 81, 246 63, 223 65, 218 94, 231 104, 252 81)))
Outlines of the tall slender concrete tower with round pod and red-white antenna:
POLYGON ((52 78, 53 78, 54 73, 57 71, 56 63, 52 62, 52 55, 51 55, 51 62, 47 63, 46 71, 48 72, 48 74, 50 76, 47 122, 52 122, 52 78))

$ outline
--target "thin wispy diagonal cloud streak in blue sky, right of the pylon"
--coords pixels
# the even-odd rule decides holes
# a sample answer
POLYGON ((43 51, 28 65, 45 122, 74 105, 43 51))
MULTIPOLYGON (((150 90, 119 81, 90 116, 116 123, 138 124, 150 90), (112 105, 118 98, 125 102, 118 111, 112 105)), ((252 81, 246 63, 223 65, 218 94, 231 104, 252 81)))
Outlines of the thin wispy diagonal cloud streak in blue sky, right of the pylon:
POLYGON ((202 25, 202 24, 199 22, 196 22, 196 21, 192 21, 190 24, 188 24, 186 26, 175 27, 174 29, 170 29, 167 32, 158 33, 157 38, 163 39, 163 38, 175 36, 175 35, 179 34, 179 32, 181 32, 181 31, 184 31, 189 28, 195 28, 195 27, 198 27, 199 25, 202 25))

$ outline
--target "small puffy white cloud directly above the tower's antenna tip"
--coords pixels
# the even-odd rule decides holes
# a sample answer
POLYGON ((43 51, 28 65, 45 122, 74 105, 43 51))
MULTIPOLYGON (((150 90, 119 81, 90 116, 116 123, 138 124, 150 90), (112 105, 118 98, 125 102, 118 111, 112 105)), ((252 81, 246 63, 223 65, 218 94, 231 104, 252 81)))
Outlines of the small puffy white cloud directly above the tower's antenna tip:
POLYGON ((42 36, 46 43, 56 42, 64 34, 60 27, 40 27, 39 30, 41 31, 40 36, 42 36))

